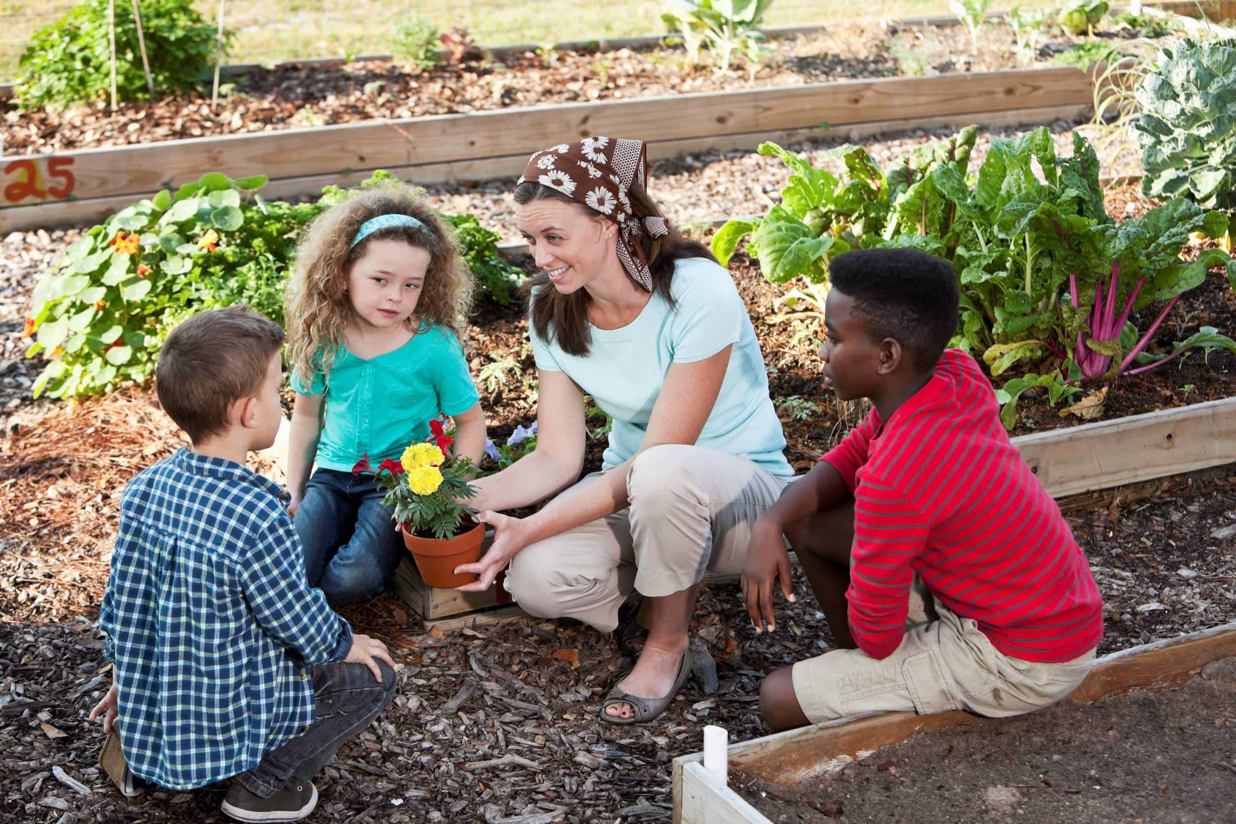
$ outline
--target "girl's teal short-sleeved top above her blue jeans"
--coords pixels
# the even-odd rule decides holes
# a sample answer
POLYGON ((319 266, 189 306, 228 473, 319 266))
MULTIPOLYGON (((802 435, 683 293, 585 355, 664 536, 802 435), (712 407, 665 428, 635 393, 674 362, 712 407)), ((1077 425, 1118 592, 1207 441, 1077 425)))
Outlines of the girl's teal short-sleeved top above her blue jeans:
POLYGON ((292 388, 325 391, 316 463, 340 471, 351 471, 365 453, 375 466, 398 459, 408 444, 429 437, 439 413, 460 414, 480 400, 459 339, 429 323, 399 349, 370 360, 341 346, 329 377, 316 375, 307 385, 293 370, 292 388))

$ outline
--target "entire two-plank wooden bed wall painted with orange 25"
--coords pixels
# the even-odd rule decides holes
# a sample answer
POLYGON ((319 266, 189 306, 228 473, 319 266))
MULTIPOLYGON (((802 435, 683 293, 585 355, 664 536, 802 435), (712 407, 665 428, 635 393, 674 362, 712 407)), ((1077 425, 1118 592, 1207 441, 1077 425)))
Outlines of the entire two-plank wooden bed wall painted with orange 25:
POLYGON ((1031 68, 838 80, 381 120, 0 158, 0 235, 98 219, 209 171, 265 174, 267 198, 353 184, 386 168, 418 183, 517 176, 528 155, 587 135, 641 135, 651 160, 865 130, 1041 122, 1085 111, 1091 74, 1031 68))

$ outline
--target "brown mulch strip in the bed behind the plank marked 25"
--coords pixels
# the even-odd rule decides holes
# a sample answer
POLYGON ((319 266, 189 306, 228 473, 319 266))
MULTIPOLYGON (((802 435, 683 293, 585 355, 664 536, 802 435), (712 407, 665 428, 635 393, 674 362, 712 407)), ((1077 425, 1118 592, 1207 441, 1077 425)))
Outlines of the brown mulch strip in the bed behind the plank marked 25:
MULTIPOLYGON (((1104 31, 1105 42, 1136 48, 1132 30, 1104 31)), ((681 48, 527 52, 503 62, 477 54, 418 71, 398 63, 357 62, 342 68, 287 64, 230 79, 218 110, 210 90, 187 98, 122 104, 104 101, 62 113, 21 111, 7 103, 6 151, 12 155, 117 146, 161 140, 459 114, 557 103, 586 103, 695 92, 798 85, 844 78, 879 78, 1042 66, 1084 37, 1058 27, 1020 53, 1005 24, 984 27, 978 43, 962 26, 855 22, 774 41, 774 53, 749 77, 743 66, 718 73, 686 66, 681 48)), ((1146 48, 1146 47, 1143 47, 1146 48)), ((1151 49, 1153 51, 1153 49, 1151 49)))

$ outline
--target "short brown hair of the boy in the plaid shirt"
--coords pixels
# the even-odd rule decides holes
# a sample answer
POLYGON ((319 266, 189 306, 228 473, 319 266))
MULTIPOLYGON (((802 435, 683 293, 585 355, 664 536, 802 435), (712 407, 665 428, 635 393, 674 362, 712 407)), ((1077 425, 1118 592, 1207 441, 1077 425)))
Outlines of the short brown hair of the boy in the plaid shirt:
POLYGON ((227 407, 253 397, 283 329, 247 306, 200 312, 172 330, 154 366, 163 411, 194 445, 227 432, 227 407))

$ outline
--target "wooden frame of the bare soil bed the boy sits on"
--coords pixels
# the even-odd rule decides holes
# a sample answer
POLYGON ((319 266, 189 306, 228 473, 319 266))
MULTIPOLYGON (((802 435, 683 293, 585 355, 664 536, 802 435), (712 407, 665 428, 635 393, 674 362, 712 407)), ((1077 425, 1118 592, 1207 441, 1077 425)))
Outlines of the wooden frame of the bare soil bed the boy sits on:
MULTIPOLYGON (((1208 663, 1232 656, 1236 624, 1122 650, 1100 658, 1069 698, 1089 704, 1131 690, 1169 689, 1208 663)), ((818 782, 912 735, 957 727, 978 718, 965 711, 873 713, 735 744, 724 761, 744 779, 789 788, 818 782)), ((708 770, 703 760, 703 753, 697 752, 674 761, 675 824, 771 824, 721 778, 724 766, 709 763, 708 770)))

